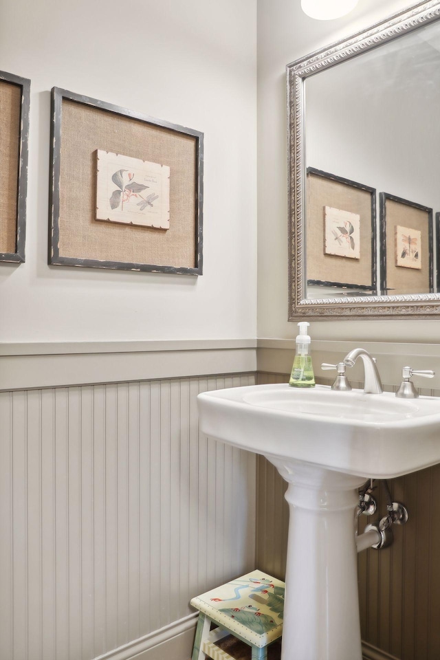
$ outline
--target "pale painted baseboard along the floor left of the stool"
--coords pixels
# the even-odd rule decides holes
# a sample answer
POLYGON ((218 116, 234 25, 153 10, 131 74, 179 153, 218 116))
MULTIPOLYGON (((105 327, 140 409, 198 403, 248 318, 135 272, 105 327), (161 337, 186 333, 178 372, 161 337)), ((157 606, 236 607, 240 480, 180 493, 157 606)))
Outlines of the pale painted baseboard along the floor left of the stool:
POLYGON ((188 660, 194 643, 198 613, 134 639, 94 660, 188 660))

